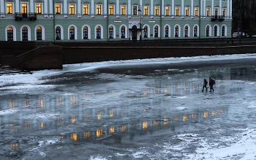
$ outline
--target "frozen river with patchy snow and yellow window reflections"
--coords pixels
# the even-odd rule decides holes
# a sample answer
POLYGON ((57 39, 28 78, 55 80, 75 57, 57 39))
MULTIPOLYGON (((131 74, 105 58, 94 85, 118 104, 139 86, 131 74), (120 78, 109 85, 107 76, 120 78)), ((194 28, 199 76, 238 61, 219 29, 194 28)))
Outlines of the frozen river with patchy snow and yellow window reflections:
POLYGON ((256 159, 255 81, 256 54, 1 75, 0 159, 256 159))

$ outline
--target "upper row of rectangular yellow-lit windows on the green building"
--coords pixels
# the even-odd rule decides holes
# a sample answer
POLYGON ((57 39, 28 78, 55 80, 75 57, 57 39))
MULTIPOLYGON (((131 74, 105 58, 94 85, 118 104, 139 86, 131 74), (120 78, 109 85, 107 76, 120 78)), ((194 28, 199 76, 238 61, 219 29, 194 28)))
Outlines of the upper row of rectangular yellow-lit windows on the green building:
MULTIPOLYGON (((7 14, 13 14, 13 7, 12 3, 7 3, 7 14)), ((55 14, 62 14, 61 9, 62 4, 55 4, 55 14)), ((89 15, 89 4, 83 4, 83 15, 89 15)), ((102 5, 96 5, 96 15, 102 15, 102 5)), ((134 5, 132 6, 132 15, 138 15, 141 13, 142 15, 149 15, 148 12, 149 6, 144 6, 143 11, 140 9, 140 6, 134 5)), ((159 6, 154 7, 154 15, 159 15, 159 6)), ((35 4, 35 12, 37 14, 42 14, 42 4, 38 3, 35 4)), ((21 4, 21 13, 26 14, 28 12, 28 4, 22 3, 21 4)), ((76 14, 76 4, 69 4, 69 15, 75 15, 76 14)), ((199 16, 199 7, 194 8, 194 15, 199 16)), ((108 9, 108 15, 115 15, 115 6, 109 5, 108 9)), ((127 6, 121 5, 121 15, 127 15, 127 6)), ((170 15, 170 7, 165 7, 165 15, 170 15)), ((175 7, 174 15, 183 15, 181 13, 181 7, 175 7)), ((184 15, 189 16, 191 15, 190 7, 185 7, 184 9, 184 15)), ((221 15, 219 14, 219 7, 214 7, 214 15, 221 15)), ((206 7, 206 16, 211 16, 211 7, 206 7)), ((222 8, 222 16, 226 16, 226 8, 222 8)))

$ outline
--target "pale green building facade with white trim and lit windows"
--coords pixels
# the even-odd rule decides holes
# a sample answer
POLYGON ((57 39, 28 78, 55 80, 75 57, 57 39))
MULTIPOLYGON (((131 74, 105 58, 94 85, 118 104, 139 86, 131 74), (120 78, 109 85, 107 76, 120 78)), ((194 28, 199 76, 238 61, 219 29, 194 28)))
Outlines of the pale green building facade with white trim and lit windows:
POLYGON ((0 0, 1 41, 231 37, 232 0, 0 0))

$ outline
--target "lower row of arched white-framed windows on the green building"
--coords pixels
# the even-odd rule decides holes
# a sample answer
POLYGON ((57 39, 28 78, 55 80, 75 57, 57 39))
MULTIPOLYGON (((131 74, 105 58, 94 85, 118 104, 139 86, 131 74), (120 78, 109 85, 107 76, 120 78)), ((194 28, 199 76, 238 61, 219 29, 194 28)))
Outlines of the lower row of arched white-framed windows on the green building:
MULTIPOLYGON (((227 36, 227 26, 223 25, 221 27, 221 36, 227 36)), ((62 26, 56 26, 55 28, 55 39, 56 40, 61 40, 64 37, 64 31, 63 31, 62 26)), ((30 28, 29 26, 23 26, 21 28, 21 39, 22 41, 28 41, 31 40, 31 33, 30 33, 30 28)), ((8 26, 7 27, 7 41, 15 41, 16 40, 16 30, 14 26, 8 26)), ((43 26, 37 26, 35 28, 35 33, 36 33, 36 39, 35 40, 45 40, 45 28, 43 26)), ((121 26, 120 28, 120 38, 128 38, 127 35, 130 35, 132 39, 137 37, 138 35, 138 28, 137 26, 132 26, 130 30, 128 30, 127 26, 121 26), (129 34, 127 34, 127 31, 129 31, 129 34)), ((154 33, 150 34, 150 28, 149 26, 143 26, 143 33, 142 37, 148 38, 150 36, 153 37, 159 37, 159 26, 156 25, 154 26, 154 33)), ((195 25, 193 27, 193 37, 198 37, 199 36, 199 26, 195 25)), ((68 39, 78 39, 77 37, 77 28, 76 26, 69 26, 68 28, 68 39)), ((82 28, 82 39, 91 39, 91 28, 89 26, 83 26, 82 28)), ((173 36, 174 37, 181 37, 181 27, 179 25, 174 26, 173 30, 173 36)), ((206 26, 206 37, 211 37, 211 26, 207 25, 206 26)), ((214 37, 219 36, 219 26, 215 25, 214 26, 214 37)), ((165 37, 170 37, 170 26, 165 26, 165 37)), ((190 37, 190 26, 186 25, 184 26, 184 37, 190 37)), ((102 39, 103 38, 103 28, 102 26, 96 26, 95 28, 95 39, 102 39)), ((110 26, 108 28, 108 38, 109 39, 114 39, 116 38, 116 28, 115 26, 110 26)))

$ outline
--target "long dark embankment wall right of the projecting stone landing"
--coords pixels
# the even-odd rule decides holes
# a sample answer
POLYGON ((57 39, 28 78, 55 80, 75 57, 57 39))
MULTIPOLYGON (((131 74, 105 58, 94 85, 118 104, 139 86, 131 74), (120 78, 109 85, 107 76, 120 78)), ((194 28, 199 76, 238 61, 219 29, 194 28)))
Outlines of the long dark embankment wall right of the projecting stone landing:
POLYGON ((115 42, 115 43, 53 43, 63 47, 63 63, 116 61, 143 58, 213 56, 256 53, 255 42, 219 41, 184 42, 115 42))

